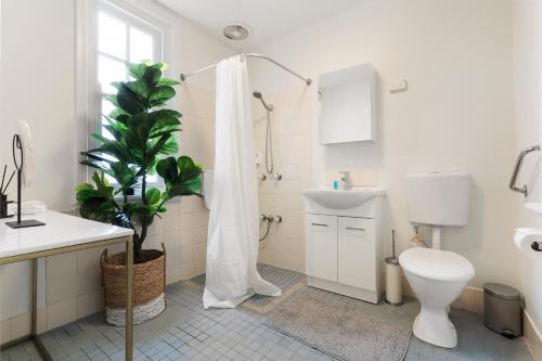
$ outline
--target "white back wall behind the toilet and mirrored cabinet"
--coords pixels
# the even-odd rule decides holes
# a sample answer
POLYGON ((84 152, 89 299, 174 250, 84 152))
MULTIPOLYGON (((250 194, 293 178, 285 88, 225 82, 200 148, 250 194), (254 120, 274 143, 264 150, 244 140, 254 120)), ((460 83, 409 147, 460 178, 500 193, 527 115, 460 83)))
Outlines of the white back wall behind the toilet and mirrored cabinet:
MULTIPOLYGON (((469 225, 444 229, 443 248, 474 263, 472 286, 489 281, 520 286, 521 258, 511 241, 516 195, 507 190, 516 155, 511 1, 374 0, 251 51, 313 79, 371 62, 379 75, 379 141, 314 146, 312 185, 324 183, 327 169, 376 169, 377 182, 388 190, 388 254, 391 228, 399 250, 413 235, 405 175, 467 171, 473 176, 469 225), (389 93, 387 83, 401 78, 409 80, 409 91, 389 93)), ((309 91, 305 101, 315 103, 315 86, 306 90, 298 79, 256 62, 250 63, 254 88, 297 99, 309 91)), ((314 118, 314 113, 301 117, 314 118)), ((289 121, 295 127, 299 116, 289 121)), ((315 130, 313 125, 313 138, 315 130)))

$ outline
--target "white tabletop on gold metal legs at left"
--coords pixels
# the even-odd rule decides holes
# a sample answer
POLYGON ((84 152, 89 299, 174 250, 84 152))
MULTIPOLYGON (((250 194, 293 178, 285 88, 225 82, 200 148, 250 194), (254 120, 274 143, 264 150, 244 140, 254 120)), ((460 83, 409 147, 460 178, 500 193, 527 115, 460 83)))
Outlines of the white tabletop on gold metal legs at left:
POLYGON ((12 229, 5 222, 16 221, 16 217, 0 219, 0 258, 133 234, 130 229, 52 210, 23 216, 22 219, 37 219, 46 225, 12 229))

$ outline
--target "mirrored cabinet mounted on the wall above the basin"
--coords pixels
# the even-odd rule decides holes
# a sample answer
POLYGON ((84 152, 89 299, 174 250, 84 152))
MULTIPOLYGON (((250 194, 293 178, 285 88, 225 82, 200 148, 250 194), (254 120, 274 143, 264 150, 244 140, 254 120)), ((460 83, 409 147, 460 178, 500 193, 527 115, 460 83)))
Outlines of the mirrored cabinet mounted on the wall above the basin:
POLYGON ((366 63, 319 77, 320 144, 376 140, 376 72, 366 63))

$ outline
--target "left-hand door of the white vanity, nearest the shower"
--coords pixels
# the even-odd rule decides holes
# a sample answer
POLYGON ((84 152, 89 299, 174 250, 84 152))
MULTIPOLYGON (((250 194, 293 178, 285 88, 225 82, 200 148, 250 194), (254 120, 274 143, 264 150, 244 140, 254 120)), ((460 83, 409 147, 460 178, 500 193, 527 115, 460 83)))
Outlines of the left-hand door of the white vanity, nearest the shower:
POLYGON ((337 282, 337 217, 306 216, 306 273, 337 282))

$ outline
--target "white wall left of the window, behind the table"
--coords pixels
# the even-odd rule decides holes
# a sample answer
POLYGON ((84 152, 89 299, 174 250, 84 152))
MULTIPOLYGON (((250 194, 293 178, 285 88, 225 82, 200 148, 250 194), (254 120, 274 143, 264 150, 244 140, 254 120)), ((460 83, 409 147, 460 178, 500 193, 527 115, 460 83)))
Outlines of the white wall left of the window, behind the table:
MULTIPOLYGON (((37 182, 24 196, 56 209, 67 209, 76 175, 74 4, 2 1, 0 165, 13 169, 15 121, 27 120, 34 131, 37 182)), ((30 268, 13 265, 2 268, 0 275, 2 318, 26 311, 30 268)))

